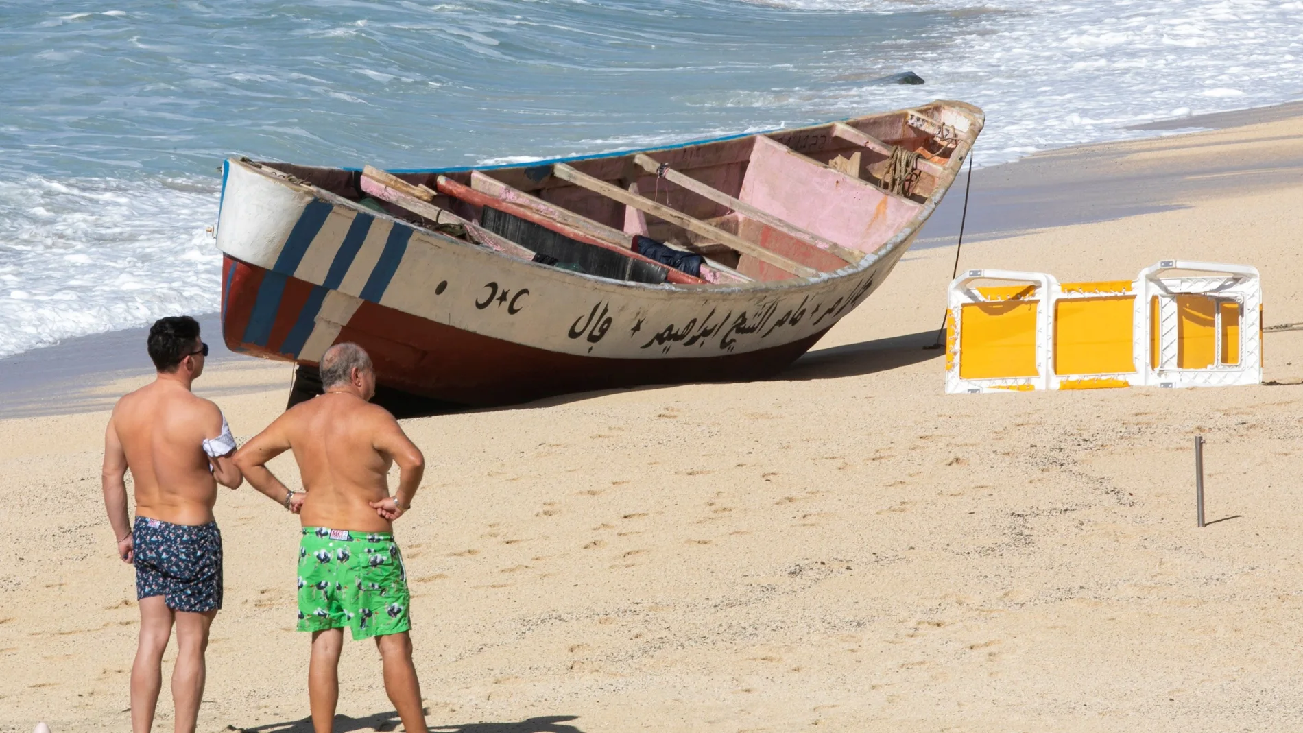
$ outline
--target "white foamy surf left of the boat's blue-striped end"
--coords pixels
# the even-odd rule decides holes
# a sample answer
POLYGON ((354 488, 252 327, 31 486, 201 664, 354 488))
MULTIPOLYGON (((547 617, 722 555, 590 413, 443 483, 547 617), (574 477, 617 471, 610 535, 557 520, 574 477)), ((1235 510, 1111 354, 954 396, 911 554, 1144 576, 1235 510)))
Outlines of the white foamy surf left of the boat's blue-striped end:
POLYGON ((216 204, 202 178, 0 181, 0 357, 215 311, 216 204))

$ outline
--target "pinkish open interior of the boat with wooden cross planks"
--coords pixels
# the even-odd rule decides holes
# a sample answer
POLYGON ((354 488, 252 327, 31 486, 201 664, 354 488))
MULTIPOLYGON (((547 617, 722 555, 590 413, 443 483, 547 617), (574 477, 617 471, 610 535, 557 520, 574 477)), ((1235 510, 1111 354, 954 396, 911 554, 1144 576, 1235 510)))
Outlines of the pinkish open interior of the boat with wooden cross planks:
POLYGON ((846 122, 515 167, 384 173, 262 165, 508 256, 547 262, 528 237, 487 230, 496 219, 486 207, 549 236, 665 267, 671 284, 737 285, 808 279, 877 251, 945 191, 980 125, 976 108, 937 102, 846 122), (700 255, 700 271, 679 272, 640 254, 640 237, 700 255))

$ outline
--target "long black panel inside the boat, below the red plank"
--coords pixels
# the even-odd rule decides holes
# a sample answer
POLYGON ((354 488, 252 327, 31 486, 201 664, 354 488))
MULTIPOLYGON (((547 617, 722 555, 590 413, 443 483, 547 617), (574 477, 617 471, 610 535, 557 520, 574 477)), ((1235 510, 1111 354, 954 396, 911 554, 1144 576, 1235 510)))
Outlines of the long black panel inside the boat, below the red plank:
MULTIPOLYGON (((524 247, 549 258, 555 258, 556 267, 577 264, 581 272, 597 275, 598 277, 611 277, 614 280, 627 280, 631 283, 649 283, 658 285, 665 283, 665 268, 649 262, 624 256, 620 253, 595 247, 539 227, 533 221, 525 221, 493 207, 483 207, 480 217, 481 225, 506 237, 524 247)), ((547 263, 552 264, 552 263, 547 263)), ((566 270, 571 270, 567 267, 566 270)))

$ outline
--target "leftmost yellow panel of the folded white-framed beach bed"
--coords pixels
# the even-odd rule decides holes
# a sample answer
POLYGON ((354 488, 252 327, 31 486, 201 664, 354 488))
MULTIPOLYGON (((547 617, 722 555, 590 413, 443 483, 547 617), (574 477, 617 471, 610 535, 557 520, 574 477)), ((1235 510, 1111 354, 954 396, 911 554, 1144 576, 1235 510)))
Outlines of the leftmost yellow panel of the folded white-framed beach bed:
POLYGON ((966 303, 959 320, 959 376, 1036 376, 1038 301, 966 303))

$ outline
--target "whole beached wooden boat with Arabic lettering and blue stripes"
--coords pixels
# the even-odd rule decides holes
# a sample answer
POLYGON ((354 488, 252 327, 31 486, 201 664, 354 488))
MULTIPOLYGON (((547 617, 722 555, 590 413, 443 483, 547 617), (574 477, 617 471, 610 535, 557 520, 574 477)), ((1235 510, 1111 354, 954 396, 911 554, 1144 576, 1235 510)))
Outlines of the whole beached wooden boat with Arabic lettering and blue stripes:
POLYGON ((934 102, 506 167, 228 160, 224 339, 297 362, 300 393, 354 341, 382 385, 459 405, 769 376, 882 284, 982 121, 934 102))

